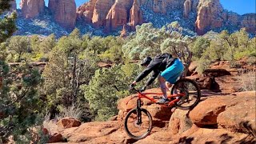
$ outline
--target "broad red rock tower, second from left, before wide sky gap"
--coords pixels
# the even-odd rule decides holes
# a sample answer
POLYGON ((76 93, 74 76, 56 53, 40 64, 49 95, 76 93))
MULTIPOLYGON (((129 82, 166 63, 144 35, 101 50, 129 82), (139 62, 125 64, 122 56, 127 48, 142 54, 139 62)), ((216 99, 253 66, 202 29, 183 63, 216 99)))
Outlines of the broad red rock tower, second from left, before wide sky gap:
POLYGON ((50 0, 49 9, 54 20, 66 29, 74 29, 76 21, 76 5, 74 0, 50 0))

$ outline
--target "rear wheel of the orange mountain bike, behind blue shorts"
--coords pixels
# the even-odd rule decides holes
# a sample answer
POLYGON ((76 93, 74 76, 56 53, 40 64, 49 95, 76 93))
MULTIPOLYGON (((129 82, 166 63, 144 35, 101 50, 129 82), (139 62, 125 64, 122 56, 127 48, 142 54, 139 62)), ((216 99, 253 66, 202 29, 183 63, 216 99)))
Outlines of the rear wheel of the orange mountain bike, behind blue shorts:
POLYGON ((176 107, 182 110, 193 109, 198 105, 201 98, 201 90, 196 82, 188 78, 182 78, 174 83, 171 94, 185 94, 179 97, 180 101, 176 103, 176 107))

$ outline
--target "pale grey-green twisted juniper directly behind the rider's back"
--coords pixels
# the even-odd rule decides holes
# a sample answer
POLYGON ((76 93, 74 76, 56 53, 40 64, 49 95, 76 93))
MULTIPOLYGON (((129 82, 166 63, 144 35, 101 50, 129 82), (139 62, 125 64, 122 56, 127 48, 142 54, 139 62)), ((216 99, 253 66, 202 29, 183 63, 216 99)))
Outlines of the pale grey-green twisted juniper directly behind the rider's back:
POLYGON ((185 63, 186 75, 192 58, 189 45, 194 39, 185 37, 182 30, 178 22, 172 22, 161 29, 154 28, 152 23, 144 23, 142 26, 137 26, 136 35, 122 46, 122 52, 126 58, 131 59, 142 59, 169 52, 185 63))

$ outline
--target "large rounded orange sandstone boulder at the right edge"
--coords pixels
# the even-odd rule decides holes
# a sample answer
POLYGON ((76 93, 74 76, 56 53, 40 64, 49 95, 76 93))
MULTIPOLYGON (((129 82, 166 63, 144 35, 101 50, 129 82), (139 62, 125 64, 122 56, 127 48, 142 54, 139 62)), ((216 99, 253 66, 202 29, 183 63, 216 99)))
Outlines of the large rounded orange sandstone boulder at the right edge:
POLYGON ((218 114, 218 126, 233 132, 242 131, 256 136, 256 92, 250 91, 235 94, 232 101, 237 103, 227 106, 225 111, 218 114))

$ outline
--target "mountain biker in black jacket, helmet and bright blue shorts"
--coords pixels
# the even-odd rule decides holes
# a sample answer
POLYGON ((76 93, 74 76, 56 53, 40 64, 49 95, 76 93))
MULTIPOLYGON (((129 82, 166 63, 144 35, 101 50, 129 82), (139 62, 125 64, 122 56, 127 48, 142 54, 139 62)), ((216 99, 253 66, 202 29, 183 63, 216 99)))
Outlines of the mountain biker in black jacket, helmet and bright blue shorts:
MULTIPOLYGON (((158 100, 158 103, 169 102, 166 94, 166 88, 170 89, 172 84, 177 81, 178 77, 182 74, 184 66, 179 58, 174 58, 171 54, 164 53, 158 54, 153 59, 146 57, 142 60, 141 66, 145 66, 146 69, 130 84, 130 89, 145 78, 150 72, 153 71, 151 77, 146 82, 146 86, 150 86, 154 79, 158 77, 160 87, 162 90, 162 98, 158 100)), ((142 90, 146 90, 146 86, 142 90)))

